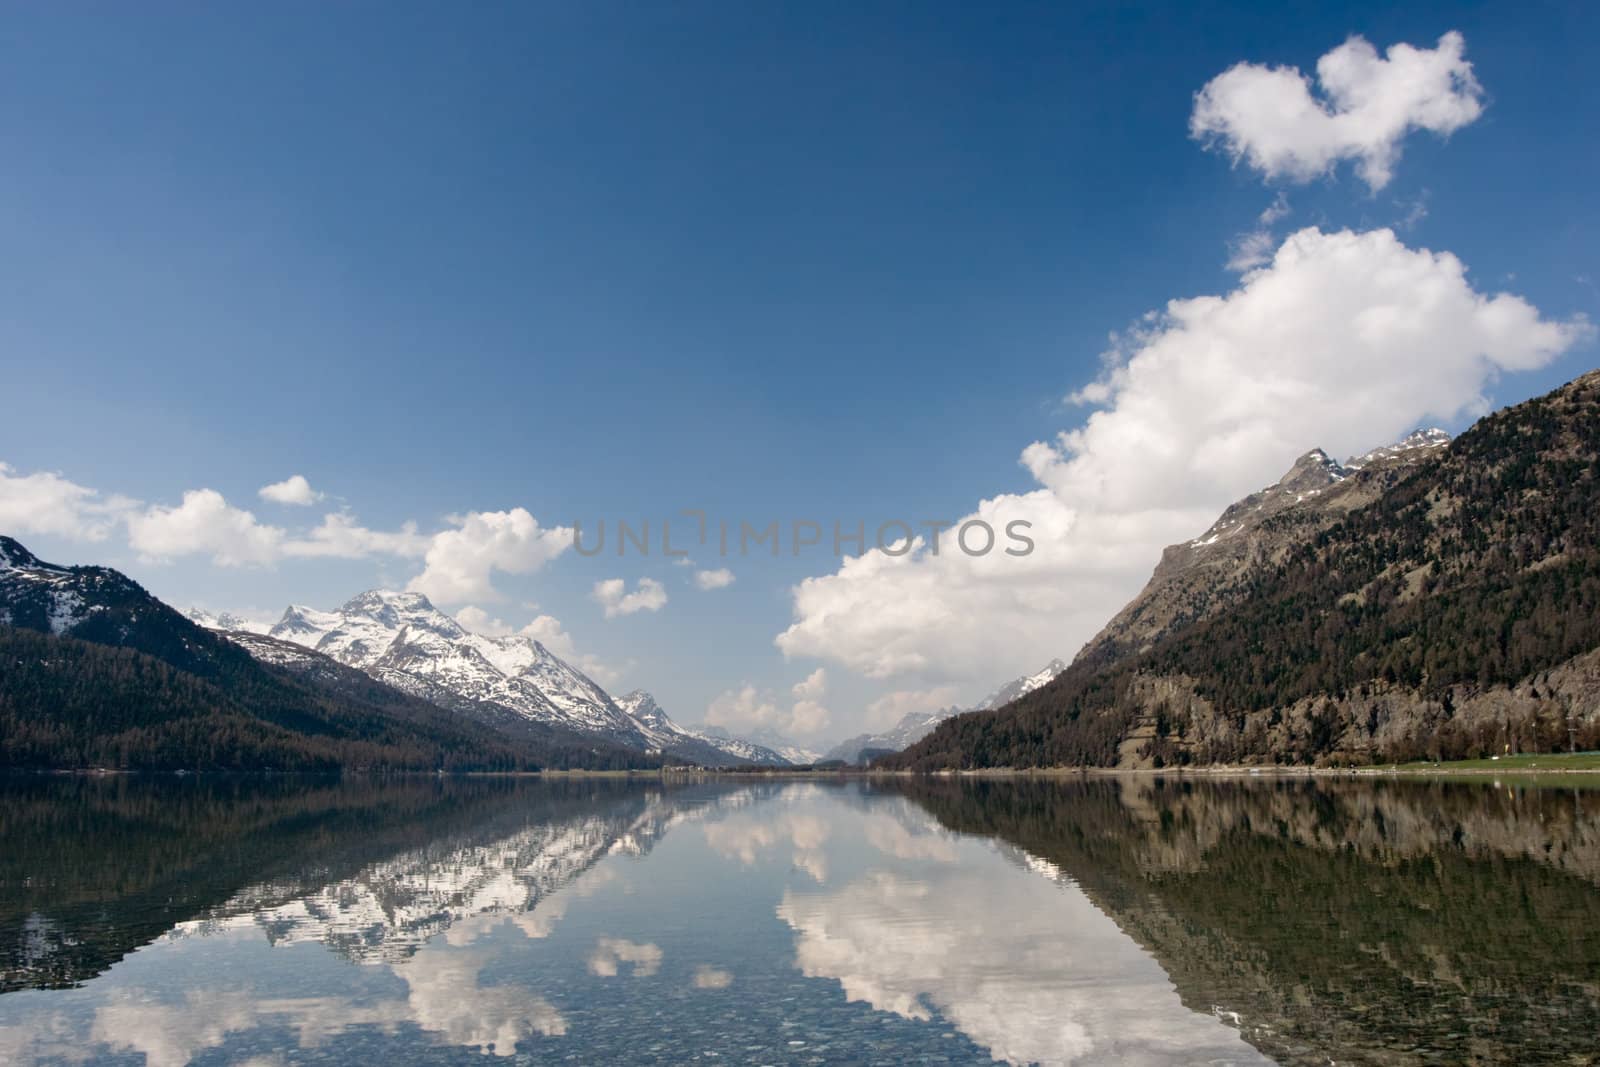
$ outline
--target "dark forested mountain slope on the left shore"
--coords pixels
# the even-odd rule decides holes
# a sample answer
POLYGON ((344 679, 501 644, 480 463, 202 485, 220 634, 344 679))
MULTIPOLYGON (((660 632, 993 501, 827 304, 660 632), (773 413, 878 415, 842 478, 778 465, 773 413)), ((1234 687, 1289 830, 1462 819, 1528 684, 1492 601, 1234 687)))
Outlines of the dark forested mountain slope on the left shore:
POLYGON ((258 662, 125 574, 0 536, 0 766, 651 766, 554 731, 510 737, 379 681, 258 662))

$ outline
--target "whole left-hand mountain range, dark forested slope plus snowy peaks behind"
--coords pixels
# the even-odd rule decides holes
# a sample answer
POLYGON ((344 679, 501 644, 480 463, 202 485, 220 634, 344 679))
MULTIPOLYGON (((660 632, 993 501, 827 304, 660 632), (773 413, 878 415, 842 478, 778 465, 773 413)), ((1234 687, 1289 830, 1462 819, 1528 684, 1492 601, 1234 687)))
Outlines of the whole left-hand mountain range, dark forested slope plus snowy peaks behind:
POLYGON ((0 766, 790 763, 685 729, 646 693, 619 704, 539 641, 472 633, 419 593, 291 606, 261 629, 186 617, 118 571, 45 563, 0 536, 0 766))

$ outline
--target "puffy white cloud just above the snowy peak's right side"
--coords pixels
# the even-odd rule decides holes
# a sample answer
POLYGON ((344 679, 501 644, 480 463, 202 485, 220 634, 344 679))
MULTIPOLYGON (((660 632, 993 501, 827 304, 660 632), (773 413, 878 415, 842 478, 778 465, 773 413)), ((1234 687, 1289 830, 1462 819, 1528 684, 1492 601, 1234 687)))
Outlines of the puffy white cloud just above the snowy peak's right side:
POLYGON ((406 589, 438 603, 496 600, 491 576, 531 574, 573 544, 571 526, 541 526, 526 509, 470 512, 434 534, 422 573, 406 589))

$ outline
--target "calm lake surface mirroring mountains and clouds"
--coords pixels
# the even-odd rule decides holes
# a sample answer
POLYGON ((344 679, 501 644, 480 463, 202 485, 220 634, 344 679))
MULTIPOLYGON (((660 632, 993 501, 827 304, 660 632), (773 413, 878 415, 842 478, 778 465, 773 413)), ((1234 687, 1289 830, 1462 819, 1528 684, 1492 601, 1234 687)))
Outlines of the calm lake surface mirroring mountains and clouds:
POLYGON ((1590 1064, 1597 1033, 1570 784, 0 784, 6 1064, 1590 1064))

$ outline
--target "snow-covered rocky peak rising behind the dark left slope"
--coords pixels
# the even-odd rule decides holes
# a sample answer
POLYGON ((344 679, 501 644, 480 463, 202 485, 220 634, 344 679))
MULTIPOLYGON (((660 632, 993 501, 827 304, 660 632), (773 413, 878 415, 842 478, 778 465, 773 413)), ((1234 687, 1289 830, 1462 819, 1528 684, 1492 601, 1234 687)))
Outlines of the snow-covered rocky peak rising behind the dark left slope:
POLYGON ((374 589, 338 611, 293 605, 267 635, 464 713, 502 709, 634 749, 656 747, 605 689, 539 641, 474 633, 422 593, 374 589))

